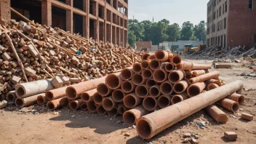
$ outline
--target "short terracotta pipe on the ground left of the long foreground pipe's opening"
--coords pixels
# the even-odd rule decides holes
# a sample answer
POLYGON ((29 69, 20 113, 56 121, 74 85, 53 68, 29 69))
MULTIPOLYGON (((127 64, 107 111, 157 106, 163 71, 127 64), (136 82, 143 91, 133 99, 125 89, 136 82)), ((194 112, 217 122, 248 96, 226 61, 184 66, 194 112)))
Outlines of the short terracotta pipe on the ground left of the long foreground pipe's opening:
POLYGON ((139 105, 136 108, 124 112, 123 121, 125 124, 135 124, 137 119, 146 114, 148 114, 148 111, 143 108, 143 105, 139 105))

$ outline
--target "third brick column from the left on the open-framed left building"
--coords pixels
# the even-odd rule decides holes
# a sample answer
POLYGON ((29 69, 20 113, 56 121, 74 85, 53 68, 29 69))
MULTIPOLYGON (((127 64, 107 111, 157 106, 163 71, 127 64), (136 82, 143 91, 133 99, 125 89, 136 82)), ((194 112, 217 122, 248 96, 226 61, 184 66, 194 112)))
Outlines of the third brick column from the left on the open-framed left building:
POLYGON ((73 33, 73 0, 66 0, 66 3, 71 5, 71 9, 68 9, 65 11, 66 14, 66 19, 65 19, 65 24, 66 24, 66 30, 70 31, 73 33))

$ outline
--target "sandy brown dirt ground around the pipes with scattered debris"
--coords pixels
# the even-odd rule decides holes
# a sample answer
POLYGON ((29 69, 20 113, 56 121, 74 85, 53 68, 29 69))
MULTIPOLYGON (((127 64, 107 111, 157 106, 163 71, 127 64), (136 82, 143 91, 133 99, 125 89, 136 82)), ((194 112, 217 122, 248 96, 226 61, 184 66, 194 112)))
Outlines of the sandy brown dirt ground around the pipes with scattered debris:
MULTIPOLYGON (((212 60, 191 61, 212 63, 212 60)), ((227 124, 217 124, 207 113, 199 111, 151 140, 142 140, 137 136, 136 129, 121 121, 121 116, 111 118, 87 111, 70 111, 68 108, 41 113, 45 108, 36 105, 33 108, 36 111, 28 113, 15 108, 0 110, 0 143, 182 143, 185 132, 198 135, 199 143, 256 143, 256 121, 244 121, 240 118, 243 112, 256 116, 256 78, 238 76, 244 71, 252 70, 242 64, 232 65, 232 69, 217 71, 220 71, 220 79, 226 83, 244 81, 246 103, 241 105, 238 113, 223 110, 228 113, 227 124), (207 126, 204 129, 196 127, 196 122, 199 121, 207 121, 207 126), (223 137, 226 131, 236 132, 238 139, 226 140, 223 137), (129 137, 124 136, 127 132, 129 137)))

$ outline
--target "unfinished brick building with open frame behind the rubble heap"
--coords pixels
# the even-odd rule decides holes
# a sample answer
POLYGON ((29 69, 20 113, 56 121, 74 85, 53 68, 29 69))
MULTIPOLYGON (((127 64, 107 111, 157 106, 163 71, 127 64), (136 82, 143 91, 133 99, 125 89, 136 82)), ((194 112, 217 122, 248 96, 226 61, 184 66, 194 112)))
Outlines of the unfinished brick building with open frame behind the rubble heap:
POLYGON ((85 38, 128 44, 128 0, 1 0, 0 16, 22 20, 17 10, 36 23, 59 27, 85 38))

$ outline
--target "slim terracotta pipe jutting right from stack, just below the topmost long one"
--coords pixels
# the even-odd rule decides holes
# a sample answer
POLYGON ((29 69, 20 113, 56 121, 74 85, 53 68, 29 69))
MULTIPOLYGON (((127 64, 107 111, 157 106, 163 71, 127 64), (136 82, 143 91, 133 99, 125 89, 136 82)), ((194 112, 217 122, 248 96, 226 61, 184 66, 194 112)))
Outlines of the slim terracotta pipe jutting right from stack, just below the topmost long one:
POLYGON ((207 81, 209 79, 213 79, 213 78, 216 78, 218 76, 220 76, 220 72, 219 71, 214 71, 212 73, 206 73, 206 74, 203 74, 201 76, 194 77, 194 78, 190 79, 188 81, 188 83, 189 84, 195 84, 197 82, 207 81))

